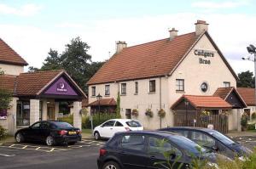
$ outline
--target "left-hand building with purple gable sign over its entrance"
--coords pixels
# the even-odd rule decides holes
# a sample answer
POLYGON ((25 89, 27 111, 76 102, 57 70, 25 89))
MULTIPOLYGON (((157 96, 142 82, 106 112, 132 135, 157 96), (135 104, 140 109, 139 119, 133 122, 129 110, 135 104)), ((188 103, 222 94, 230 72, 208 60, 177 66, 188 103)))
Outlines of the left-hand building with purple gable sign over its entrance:
POLYGON ((0 39, 0 87, 13 94, 11 108, 1 110, 0 125, 14 133, 21 127, 36 121, 57 120, 59 103, 73 102, 73 125, 81 128, 79 114, 84 92, 68 76, 65 70, 38 71, 24 73, 28 65, 9 45, 0 39))

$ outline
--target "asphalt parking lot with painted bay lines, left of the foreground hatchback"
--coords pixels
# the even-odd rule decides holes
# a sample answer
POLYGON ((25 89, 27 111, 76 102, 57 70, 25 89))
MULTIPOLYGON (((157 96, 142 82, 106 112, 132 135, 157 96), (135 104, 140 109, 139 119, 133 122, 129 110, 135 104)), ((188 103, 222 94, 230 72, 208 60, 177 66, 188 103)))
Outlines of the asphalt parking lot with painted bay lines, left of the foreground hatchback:
POLYGON ((44 144, 0 144, 1 169, 8 168, 83 168, 96 169, 102 141, 83 139, 70 146, 49 147, 44 144))

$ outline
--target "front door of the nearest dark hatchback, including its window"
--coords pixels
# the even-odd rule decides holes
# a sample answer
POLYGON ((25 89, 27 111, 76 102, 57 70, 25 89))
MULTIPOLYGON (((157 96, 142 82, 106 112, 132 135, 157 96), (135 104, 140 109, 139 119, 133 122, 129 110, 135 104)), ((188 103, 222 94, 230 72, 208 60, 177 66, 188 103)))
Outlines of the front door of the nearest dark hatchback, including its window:
POLYGON ((147 144, 148 168, 150 169, 166 169, 166 168, 185 168, 183 166, 183 153, 181 150, 165 138, 148 136, 147 144), (168 154, 168 157, 165 155, 168 154), (168 165, 168 162, 170 165, 168 165))

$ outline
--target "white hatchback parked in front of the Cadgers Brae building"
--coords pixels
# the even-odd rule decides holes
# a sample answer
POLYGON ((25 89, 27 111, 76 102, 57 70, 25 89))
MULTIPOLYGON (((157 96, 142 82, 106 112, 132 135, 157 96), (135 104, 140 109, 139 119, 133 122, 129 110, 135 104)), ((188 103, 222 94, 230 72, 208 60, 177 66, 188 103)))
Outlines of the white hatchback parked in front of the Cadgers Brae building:
POLYGON ((143 130, 143 126, 139 121, 131 119, 111 119, 95 127, 94 138, 112 138, 115 132, 129 132, 143 130))

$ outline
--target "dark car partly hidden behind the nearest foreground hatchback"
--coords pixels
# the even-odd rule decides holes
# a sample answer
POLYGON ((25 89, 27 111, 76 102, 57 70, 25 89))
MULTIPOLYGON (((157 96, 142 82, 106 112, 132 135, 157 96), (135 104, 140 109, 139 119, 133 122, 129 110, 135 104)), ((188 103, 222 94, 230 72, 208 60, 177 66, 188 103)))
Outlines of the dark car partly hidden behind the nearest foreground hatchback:
POLYGON ((191 139, 195 143, 200 144, 206 149, 212 149, 213 151, 226 155, 232 159, 234 159, 236 155, 244 156, 252 153, 250 149, 247 149, 245 146, 237 143, 228 136, 209 128, 166 127, 160 129, 160 131, 176 132, 191 139))

